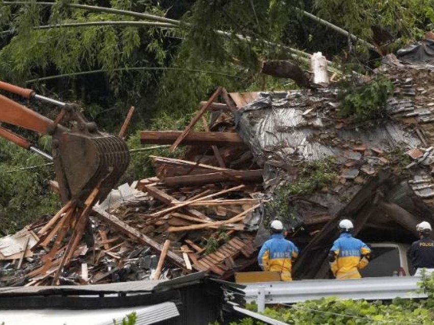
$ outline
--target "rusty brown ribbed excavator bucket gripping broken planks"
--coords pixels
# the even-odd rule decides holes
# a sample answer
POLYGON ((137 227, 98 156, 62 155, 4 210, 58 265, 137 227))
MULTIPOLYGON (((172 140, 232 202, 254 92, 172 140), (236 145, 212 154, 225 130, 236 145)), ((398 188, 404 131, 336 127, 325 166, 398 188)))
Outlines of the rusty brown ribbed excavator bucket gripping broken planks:
POLYGON ((96 201, 104 200, 130 162, 127 145, 113 135, 67 131, 55 140, 53 160, 63 201, 83 201, 97 185, 96 201))

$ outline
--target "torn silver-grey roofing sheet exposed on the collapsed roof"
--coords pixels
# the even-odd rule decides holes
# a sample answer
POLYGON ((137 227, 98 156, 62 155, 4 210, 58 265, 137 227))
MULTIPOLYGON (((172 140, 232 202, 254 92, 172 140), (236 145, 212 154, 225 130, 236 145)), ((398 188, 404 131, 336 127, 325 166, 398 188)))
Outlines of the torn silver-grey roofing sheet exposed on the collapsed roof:
POLYGON ((345 156, 345 146, 341 144, 350 140, 381 149, 403 144, 412 148, 421 145, 419 138, 406 132, 400 122, 379 121, 372 126, 351 128, 338 126, 327 116, 337 105, 335 95, 334 89, 327 88, 260 92, 240 110, 238 133, 250 146, 259 165, 276 155, 283 160, 294 154, 305 160, 345 156))

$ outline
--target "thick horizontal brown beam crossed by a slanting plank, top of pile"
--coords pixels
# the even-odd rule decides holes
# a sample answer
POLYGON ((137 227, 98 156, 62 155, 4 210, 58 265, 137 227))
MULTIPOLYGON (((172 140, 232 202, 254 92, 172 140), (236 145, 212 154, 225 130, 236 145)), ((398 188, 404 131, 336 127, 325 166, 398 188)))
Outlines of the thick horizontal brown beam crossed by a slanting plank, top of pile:
MULTIPOLYGON (((168 145, 173 143, 181 134, 181 131, 141 131, 140 143, 168 145)), ((191 131, 183 138, 184 145, 227 145, 242 144, 243 140, 234 132, 198 132, 191 131)))

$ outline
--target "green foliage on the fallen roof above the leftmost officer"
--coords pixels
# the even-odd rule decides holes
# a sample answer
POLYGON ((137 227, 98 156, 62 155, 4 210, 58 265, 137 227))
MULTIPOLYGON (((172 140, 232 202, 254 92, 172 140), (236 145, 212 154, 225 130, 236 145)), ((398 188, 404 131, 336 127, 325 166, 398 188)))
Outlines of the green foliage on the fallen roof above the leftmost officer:
POLYGON ((309 195, 333 184, 336 179, 336 164, 333 157, 305 161, 299 166, 298 178, 287 181, 274 191, 274 199, 267 204, 271 218, 293 219, 291 203, 293 195, 309 195))

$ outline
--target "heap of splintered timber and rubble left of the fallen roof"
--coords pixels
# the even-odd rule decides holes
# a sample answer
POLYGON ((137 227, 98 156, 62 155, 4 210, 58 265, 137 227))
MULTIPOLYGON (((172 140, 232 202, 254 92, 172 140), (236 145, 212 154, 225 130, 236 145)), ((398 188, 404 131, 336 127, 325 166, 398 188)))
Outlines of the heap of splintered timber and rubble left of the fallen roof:
MULTIPOLYGON (((218 91, 228 98, 224 89, 218 91)), ((71 229, 79 222, 71 217, 71 204, 14 235, 19 241, 4 239, 0 251, 9 255, 0 255, 0 284, 95 284, 195 271, 227 278, 255 263, 263 171, 235 132, 229 108, 234 104, 201 104, 187 129, 170 137, 170 143, 198 146, 184 159, 151 156, 156 177, 112 190, 92 208, 80 242, 63 227, 67 218, 71 229), (212 111, 211 131, 202 116, 206 110, 212 111), (205 131, 193 133, 190 142, 189 129, 199 120, 205 131)), ((167 143, 163 138, 166 132, 141 134, 142 143, 167 143)))

